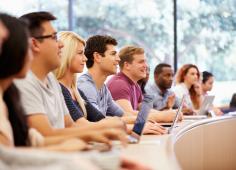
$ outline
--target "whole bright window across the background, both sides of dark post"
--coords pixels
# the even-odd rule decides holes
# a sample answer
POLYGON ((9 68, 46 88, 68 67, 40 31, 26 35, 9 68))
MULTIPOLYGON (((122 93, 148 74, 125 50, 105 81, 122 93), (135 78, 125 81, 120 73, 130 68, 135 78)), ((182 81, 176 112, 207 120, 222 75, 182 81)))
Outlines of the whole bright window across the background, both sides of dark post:
MULTIPOLYGON (((174 0, 9 0, 0 11, 20 16, 46 10, 57 16, 57 29, 85 39, 109 34, 118 48, 145 48, 153 72, 160 62, 174 65, 174 0)), ((177 0, 178 67, 196 64, 215 75, 215 103, 227 103, 236 92, 236 1, 177 0), (224 91, 224 93, 222 93, 224 91)), ((152 75, 151 75, 151 81, 152 75)))

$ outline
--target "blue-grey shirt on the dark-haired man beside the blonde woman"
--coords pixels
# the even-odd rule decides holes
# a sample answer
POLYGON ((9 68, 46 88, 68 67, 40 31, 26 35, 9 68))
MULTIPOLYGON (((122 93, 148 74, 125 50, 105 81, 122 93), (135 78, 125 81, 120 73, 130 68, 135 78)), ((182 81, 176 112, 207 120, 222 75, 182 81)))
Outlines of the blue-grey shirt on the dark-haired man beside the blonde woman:
POLYGON ((122 116, 124 111, 112 99, 111 93, 104 84, 97 89, 91 75, 85 73, 78 79, 78 88, 84 92, 88 101, 96 107, 104 116, 122 116))

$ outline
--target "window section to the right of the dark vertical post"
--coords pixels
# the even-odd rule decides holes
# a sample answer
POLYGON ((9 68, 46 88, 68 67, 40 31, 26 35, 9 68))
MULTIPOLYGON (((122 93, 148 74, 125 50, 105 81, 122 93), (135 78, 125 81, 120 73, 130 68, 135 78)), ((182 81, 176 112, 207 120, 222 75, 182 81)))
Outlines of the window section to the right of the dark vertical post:
POLYGON ((178 0, 178 65, 196 64, 215 75, 216 103, 236 92, 236 1, 178 0))

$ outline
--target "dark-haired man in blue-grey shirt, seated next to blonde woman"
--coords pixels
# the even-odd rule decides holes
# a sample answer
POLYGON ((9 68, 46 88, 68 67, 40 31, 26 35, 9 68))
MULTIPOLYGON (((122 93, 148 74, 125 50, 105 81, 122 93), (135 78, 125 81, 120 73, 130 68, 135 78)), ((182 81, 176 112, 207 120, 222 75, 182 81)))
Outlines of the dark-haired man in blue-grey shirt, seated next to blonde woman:
MULTIPOLYGON (((83 91, 88 101, 104 116, 119 116, 125 122, 133 124, 136 115, 124 112, 114 102, 110 91, 104 84, 109 75, 116 73, 120 61, 115 46, 117 41, 110 36, 95 35, 86 41, 85 56, 88 72, 78 79, 78 88, 83 91)), ((132 129, 131 126, 128 129, 132 129)), ((148 122, 144 134, 163 134, 165 130, 157 123, 148 122)))

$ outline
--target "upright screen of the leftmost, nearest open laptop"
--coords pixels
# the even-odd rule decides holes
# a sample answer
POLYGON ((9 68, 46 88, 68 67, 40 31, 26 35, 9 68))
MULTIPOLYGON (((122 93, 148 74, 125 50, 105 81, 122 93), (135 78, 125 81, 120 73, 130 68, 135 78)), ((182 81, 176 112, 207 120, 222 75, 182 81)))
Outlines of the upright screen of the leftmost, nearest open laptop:
POLYGON ((144 94, 144 99, 142 101, 141 109, 138 112, 137 119, 134 124, 133 132, 141 135, 143 132, 144 125, 148 118, 148 113, 153 106, 153 95, 144 94))

